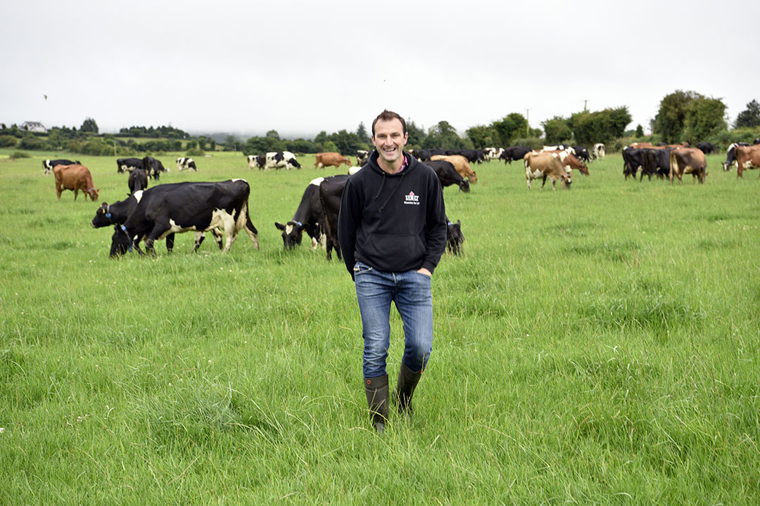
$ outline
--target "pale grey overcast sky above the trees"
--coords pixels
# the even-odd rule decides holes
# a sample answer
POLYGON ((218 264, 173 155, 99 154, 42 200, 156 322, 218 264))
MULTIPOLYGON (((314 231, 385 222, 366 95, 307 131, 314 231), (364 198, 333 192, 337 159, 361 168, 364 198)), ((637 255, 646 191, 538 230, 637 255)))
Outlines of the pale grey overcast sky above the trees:
POLYGON ((0 122, 312 138, 383 108, 430 127, 531 127, 675 90, 760 99, 760 2, 2 2, 0 122), (47 99, 44 97, 47 96, 47 99))

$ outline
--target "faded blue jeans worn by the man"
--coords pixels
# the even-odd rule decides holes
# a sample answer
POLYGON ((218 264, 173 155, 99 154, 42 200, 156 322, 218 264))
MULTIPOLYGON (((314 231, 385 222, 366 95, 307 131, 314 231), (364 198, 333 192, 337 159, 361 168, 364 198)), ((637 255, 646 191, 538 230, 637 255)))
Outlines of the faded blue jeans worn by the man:
POLYGON ((356 300, 362 315, 365 378, 385 376, 391 341, 391 301, 404 322, 404 357, 413 372, 425 369, 432 351, 430 277, 415 271, 382 272, 356 262, 356 300))

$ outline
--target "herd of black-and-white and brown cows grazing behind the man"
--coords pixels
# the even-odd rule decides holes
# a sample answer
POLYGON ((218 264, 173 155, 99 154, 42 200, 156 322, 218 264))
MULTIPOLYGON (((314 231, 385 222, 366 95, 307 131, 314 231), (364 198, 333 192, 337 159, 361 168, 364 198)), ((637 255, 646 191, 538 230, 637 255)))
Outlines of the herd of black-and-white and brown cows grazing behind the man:
MULTIPOLYGON (((647 175, 660 178, 673 177, 681 181, 683 174, 692 174, 700 183, 704 183, 707 175, 705 153, 712 152, 714 146, 709 143, 699 143, 697 148, 686 145, 652 146, 649 143, 634 143, 625 146, 622 151, 623 174, 625 178, 641 170, 639 181, 647 175)), ((487 149, 419 149, 411 151, 413 156, 429 165, 443 187, 457 185, 462 192, 470 191, 470 184, 477 182, 477 174, 470 163, 480 163, 493 159, 511 163, 522 159, 525 166, 527 187, 530 181, 537 178, 560 181, 564 187, 572 184, 572 170, 578 169, 581 174, 588 175, 585 162, 593 159, 603 159, 605 149, 603 144, 596 144, 591 152, 584 146, 544 146, 540 150, 531 150, 521 146, 508 148, 487 149)), ((349 166, 349 174, 339 174, 311 181, 304 191, 301 201, 287 223, 275 222, 275 227, 281 231, 283 246, 290 249, 299 246, 302 234, 311 239, 312 249, 319 245, 325 248, 328 259, 332 250, 340 258, 340 248, 337 242, 337 213, 340 209, 340 197, 350 174, 360 170, 369 156, 367 151, 356 153, 356 165, 351 165, 347 157, 340 153, 317 153, 315 168, 325 168, 333 165, 349 166)), ((296 156, 291 152, 268 152, 260 156, 247 156, 250 168, 269 170, 271 168, 301 168, 296 156)), ((753 145, 734 143, 729 146, 724 170, 733 165, 737 175, 742 176, 743 170, 760 168, 760 139, 753 145)), ((220 250, 229 251, 239 231, 244 230, 258 249, 258 231, 249 217, 250 187, 244 179, 233 179, 221 182, 184 182, 175 184, 160 184, 148 188, 148 180, 156 181, 161 172, 168 172, 158 159, 146 156, 143 159, 128 158, 116 161, 118 172, 128 172, 128 187, 130 194, 126 200, 113 204, 102 203, 90 222, 94 228, 113 226, 111 256, 119 256, 127 251, 141 250, 140 243, 144 240, 148 253, 155 254, 154 242, 166 239, 166 250, 171 252, 174 245, 174 235, 178 232, 195 231, 195 247, 198 250, 204 240, 205 233, 211 232, 220 250), (223 244, 223 238, 226 240, 223 244)), ((195 161, 181 157, 176 160, 178 171, 185 169, 198 171, 195 161)), ((55 192, 60 200, 62 190, 73 190, 74 200, 78 191, 82 190, 85 198, 98 199, 99 188, 93 184, 90 171, 81 163, 66 159, 45 160, 43 173, 55 174, 55 192)), ((542 188, 543 188, 542 184, 542 188)), ((461 222, 448 220, 448 250, 453 254, 461 251, 464 235, 461 232, 461 222)))

